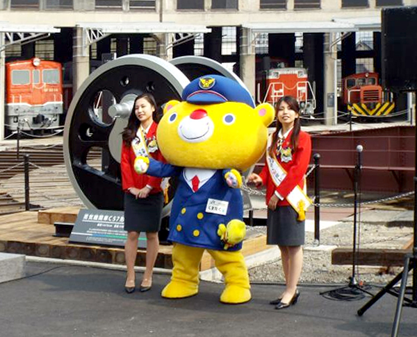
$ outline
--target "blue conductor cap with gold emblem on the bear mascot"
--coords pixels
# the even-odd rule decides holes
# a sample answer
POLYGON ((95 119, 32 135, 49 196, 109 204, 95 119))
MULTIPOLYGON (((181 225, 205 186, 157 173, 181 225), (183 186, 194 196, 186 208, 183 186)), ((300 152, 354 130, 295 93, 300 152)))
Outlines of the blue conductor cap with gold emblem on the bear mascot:
POLYGON ((240 102, 255 107, 245 87, 236 80, 220 75, 205 75, 192 80, 184 88, 182 99, 193 104, 240 102))

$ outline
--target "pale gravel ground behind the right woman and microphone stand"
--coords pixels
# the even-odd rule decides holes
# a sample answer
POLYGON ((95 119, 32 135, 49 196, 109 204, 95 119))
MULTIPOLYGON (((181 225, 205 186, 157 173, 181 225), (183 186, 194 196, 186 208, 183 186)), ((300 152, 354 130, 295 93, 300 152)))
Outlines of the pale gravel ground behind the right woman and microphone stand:
MULTIPOLYGON (((352 223, 338 223, 320 231, 320 245, 336 245, 352 248, 352 223)), ((259 228, 259 227, 258 227, 259 228)), ((258 229, 265 232, 265 229, 258 229)), ((360 248, 402 248, 412 237, 412 227, 386 227, 384 225, 361 225, 360 248)), ((306 233, 304 266, 300 284, 347 284, 352 275, 349 266, 332 265, 332 250, 311 250, 313 233, 306 233)), ((386 284, 401 268, 359 266, 357 280, 364 284, 386 284), (381 272, 383 270, 383 272, 381 272)), ((252 282, 284 282, 280 259, 250 268, 252 282)))

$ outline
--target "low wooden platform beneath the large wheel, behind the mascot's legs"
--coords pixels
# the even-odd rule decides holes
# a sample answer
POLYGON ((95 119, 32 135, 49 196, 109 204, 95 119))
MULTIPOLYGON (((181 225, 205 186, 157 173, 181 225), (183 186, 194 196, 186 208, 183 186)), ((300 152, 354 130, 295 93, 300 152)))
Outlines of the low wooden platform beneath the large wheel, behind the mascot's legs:
MULTIPOLYGON (((122 248, 68 243, 68 238, 55 237, 55 222, 74 223, 79 207, 61 207, 42 211, 24 211, 0 216, 0 252, 26 254, 36 257, 72 259, 101 263, 124 264, 122 248)), ((245 256, 267 249, 264 235, 245 239, 245 256)), ((136 266, 145 266, 145 250, 138 250, 136 266)), ((172 268, 172 246, 161 245, 155 266, 172 268)), ((201 270, 213 268, 214 261, 204 252, 201 270)))

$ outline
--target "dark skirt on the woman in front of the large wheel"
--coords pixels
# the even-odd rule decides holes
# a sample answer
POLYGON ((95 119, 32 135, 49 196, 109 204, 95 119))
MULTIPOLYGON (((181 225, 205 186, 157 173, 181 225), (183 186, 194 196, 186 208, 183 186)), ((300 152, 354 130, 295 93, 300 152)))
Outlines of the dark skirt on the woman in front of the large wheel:
POLYGON ((127 232, 158 232, 161 229, 163 193, 138 198, 124 193, 124 230, 127 232))

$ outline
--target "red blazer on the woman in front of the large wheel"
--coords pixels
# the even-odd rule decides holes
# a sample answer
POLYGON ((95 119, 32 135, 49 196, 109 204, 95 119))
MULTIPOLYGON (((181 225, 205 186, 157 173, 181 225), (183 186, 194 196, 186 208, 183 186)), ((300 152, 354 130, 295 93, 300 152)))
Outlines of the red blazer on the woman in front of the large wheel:
MULTIPOLYGON (((151 127, 146 135, 146 141, 151 141, 156 139, 156 128, 158 124, 152 122, 151 127)), ((152 158, 164 162, 163 156, 160 150, 156 150, 154 153, 150 153, 152 158)), ((120 159, 120 169, 122 171, 122 189, 127 192, 129 187, 136 187, 137 189, 142 189, 146 185, 152 186, 153 189, 149 193, 158 193, 161 192, 161 178, 151 177, 146 174, 138 174, 133 169, 133 163, 135 162, 136 155, 133 152, 131 146, 125 146, 122 144, 122 158, 120 159)))

